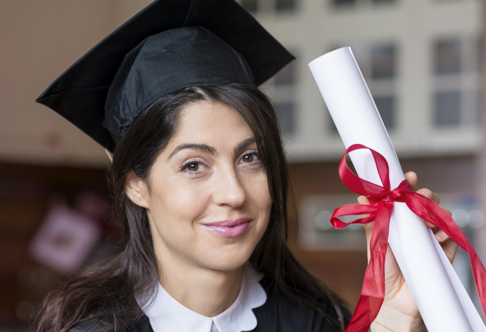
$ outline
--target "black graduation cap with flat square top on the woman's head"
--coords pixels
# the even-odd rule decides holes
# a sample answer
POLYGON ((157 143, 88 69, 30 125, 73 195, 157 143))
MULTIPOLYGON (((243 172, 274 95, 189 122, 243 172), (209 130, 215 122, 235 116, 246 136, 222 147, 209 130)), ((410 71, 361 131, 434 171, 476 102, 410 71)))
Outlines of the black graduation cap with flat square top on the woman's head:
POLYGON ((89 50, 36 100, 106 149, 179 88, 260 85, 294 57, 234 0, 156 0, 89 50))

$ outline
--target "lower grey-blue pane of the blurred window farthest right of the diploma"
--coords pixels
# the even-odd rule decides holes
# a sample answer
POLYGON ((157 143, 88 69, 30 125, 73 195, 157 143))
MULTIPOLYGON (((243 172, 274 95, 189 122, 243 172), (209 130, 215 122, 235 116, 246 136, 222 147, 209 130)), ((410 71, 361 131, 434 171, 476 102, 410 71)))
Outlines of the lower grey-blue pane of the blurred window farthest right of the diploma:
POLYGON ((459 91, 435 94, 435 118, 437 127, 457 126, 460 123, 461 94, 459 91))

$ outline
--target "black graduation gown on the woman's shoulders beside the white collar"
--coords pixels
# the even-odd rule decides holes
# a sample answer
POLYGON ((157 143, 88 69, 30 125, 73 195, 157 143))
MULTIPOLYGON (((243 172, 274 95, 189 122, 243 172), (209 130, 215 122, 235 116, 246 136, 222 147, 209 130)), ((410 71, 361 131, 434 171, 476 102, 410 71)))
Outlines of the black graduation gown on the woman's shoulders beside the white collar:
MULTIPOLYGON (((322 313, 290 299, 276 286, 272 278, 265 277, 260 281, 260 284, 265 289, 267 300, 261 307, 252 309, 258 322, 257 327, 252 332, 341 331, 336 323, 338 316, 334 308, 322 302, 317 303, 322 312, 333 318, 333 322, 322 313)), ((309 300, 306 295, 301 295, 301 297, 309 300)), ((93 321, 85 321, 75 326, 71 331, 90 332, 95 324, 93 321)), ((121 327, 117 332, 154 332, 154 330, 150 326, 148 317, 143 315, 137 322, 121 327)))

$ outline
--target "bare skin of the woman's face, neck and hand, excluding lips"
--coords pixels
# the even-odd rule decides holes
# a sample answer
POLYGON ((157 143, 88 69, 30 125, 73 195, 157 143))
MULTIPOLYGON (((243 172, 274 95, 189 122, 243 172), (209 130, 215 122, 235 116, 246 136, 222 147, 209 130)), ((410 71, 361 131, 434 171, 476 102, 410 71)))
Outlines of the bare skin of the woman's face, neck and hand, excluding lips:
MULTIPOLYGON (((405 176, 415 189, 417 175, 405 176)), ((164 289, 199 314, 226 310, 239 294, 243 264, 265 232, 272 206, 253 133, 239 113, 223 102, 186 108, 147 182, 130 172, 125 191, 147 211, 164 289), (239 218, 252 221, 238 237, 223 237, 204 226, 239 218)), ((439 201, 428 189, 418 192, 439 201)), ((364 196, 358 201, 369 204, 364 196)), ((373 224, 364 227, 369 257, 373 224)), ((452 261, 457 245, 443 231, 433 230, 452 261)), ((422 319, 389 247, 385 281, 386 297, 375 319, 381 325, 374 323, 372 331, 420 331, 422 319)))

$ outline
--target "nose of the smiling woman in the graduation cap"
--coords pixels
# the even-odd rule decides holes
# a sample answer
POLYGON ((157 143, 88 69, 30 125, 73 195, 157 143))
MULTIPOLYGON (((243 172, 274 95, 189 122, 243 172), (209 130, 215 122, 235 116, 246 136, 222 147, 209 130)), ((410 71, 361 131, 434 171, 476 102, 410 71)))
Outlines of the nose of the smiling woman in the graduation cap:
POLYGON ((244 190, 238 175, 233 167, 218 172, 217 181, 214 183, 213 199, 218 205, 232 207, 242 206, 246 200, 244 190))

